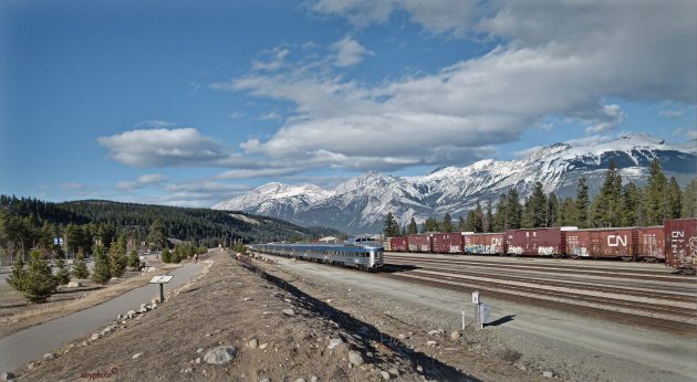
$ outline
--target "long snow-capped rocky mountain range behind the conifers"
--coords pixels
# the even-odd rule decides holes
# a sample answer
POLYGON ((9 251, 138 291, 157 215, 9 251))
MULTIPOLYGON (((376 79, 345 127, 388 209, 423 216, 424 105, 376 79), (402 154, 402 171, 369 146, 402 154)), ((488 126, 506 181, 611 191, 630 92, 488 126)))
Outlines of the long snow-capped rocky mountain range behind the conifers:
POLYGON ((393 177, 375 172, 352 178, 334 189, 316 185, 264 184, 249 194, 218 203, 214 209, 270 215, 305 226, 344 232, 376 232, 387 212, 399 221, 423 222, 449 212, 465 214, 479 200, 492 202, 511 188, 527 197, 535 181, 558 197, 575 195, 579 178, 597 191, 611 160, 623 179, 643 184, 648 166, 658 158, 667 176, 680 184, 696 177, 697 141, 670 145, 663 139, 632 134, 592 146, 555 144, 517 160, 480 160, 467 167, 446 167, 420 177, 393 177))

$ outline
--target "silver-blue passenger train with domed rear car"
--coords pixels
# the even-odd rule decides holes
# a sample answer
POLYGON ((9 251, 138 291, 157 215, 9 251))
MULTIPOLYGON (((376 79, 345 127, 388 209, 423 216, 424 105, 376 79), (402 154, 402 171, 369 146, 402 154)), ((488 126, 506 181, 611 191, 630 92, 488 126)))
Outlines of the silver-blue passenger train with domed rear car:
POLYGON ((259 253, 300 258, 330 265, 377 272, 383 267, 383 244, 367 237, 352 237, 344 244, 268 243, 249 247, 259 253))

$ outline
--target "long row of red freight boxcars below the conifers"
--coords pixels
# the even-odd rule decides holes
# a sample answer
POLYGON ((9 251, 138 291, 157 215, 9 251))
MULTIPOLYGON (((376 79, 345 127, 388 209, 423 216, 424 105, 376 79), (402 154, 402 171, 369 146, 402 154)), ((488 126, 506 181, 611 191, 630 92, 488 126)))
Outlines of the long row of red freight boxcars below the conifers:
POLYGON ((549 227, 501 233, 428 233, 392 237, 392 252, 622 258, 665 261, 666 266, 697 269, 697 219, 672 219, 663 225, 589 229, 549 227))

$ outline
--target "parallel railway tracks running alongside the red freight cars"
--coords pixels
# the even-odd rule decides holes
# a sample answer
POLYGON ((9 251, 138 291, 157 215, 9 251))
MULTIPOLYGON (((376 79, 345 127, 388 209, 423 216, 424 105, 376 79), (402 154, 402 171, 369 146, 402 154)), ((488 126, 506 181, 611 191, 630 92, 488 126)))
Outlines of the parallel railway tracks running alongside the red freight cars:
POLYGON ((389 255, 385 256, 385 263, 386 272, 381 277, 408 279, 466 293, 480 290, 493 298, 697 337, 697 283, 694 278, 674 275, 652 278, 655 272, 647 270, 633 276, 641 287, 627 287, 627 276, 634 269, 617 272, 620 277, 615 277, 614 269, 579 273, 571 265, 550 268, 534 264, 389 255), (501 267, 491 268, 490 265, 501 267), (562 269, 565 273, 561 273, 562 269), (583 276, 591 279, 584 282, 583 276), (599 277, 603 278, 603 285, 596 285, 599 277), (665 285, 646 284, 646 278, 665 285), (612 285, 613 279, 620 279, 623 285, 612 285), (672 284, 673 288, 668 288, 672 284))

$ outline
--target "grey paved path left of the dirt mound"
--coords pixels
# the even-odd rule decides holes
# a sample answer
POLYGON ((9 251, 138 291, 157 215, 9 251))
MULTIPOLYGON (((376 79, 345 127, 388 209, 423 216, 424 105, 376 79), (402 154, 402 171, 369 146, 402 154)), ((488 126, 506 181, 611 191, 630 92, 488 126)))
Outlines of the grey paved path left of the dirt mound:
MULTIPOLYGON (((174 278, 165 285, 165 293, 187 283, 201 266, 201 263, 188 264, 170 272, 174 278)), ((64 342, 108 325, 119 312, 138 309, 141 304, 158 296, 159 288, 156 285, 145 285, 93 308, 4 337, 0 339, 0 372, 13 371, 31 360, 39 359, 64 342)))

